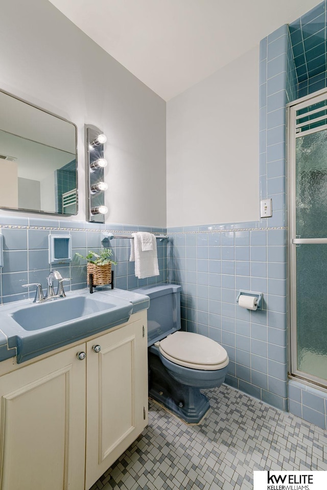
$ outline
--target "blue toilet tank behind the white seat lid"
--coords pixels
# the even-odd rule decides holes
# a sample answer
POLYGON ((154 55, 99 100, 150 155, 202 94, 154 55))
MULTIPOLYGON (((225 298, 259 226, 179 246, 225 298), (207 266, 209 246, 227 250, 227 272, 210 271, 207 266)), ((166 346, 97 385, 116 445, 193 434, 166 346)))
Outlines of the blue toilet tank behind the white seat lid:
POLYGON ((176 284, 154 284, 133 289, 150 298, 148 346, 180 330, 180 291, 176 284))

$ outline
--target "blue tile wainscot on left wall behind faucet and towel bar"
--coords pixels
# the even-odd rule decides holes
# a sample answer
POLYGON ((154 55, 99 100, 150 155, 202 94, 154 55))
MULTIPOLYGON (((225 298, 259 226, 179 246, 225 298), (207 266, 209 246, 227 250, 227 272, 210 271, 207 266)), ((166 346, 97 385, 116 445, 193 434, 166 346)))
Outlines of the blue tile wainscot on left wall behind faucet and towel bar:
POLYGON ((69 233, 72 235, 73 260, 71 263, 56 264, 63 277, 72 280, 65 285, 65 290, 86 287, 86 261, 75 253, 86 255, 89 250, 98 251, 101 247, 111 248, 113 260, 114 286, 132 289, 167 280, 167 240, 157 240, 157 252, 160 275, 148 279, 135 277, 134 262, 129 262, 130 240, 113 238, 101 242, 101 231, 113 234, 134 231, 151 231, 165 233, 164 228, 151 228, 129 225, 96 225, 94 224, 32 217, 0 216, 0 233, 3 235, 4 266, 0 268, 0 302, 8 303, 26 298, 34 298, 34 292, 22 288, 23 284, 40 282, 46 285, 45 278, 51 266, 48 255, 49 234, 69 233))

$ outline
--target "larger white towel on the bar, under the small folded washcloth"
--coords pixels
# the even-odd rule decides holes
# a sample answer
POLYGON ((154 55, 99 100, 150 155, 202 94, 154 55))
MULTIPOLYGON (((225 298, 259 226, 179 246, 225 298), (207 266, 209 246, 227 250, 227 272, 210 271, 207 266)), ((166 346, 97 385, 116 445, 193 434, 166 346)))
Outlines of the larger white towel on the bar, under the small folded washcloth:
POLYGON ((135 260, 135 276, 138 279, 159 276, 157 242, 153 235, 153 250, 142 251, 141 233, 132 233, 130 262, 135 260))

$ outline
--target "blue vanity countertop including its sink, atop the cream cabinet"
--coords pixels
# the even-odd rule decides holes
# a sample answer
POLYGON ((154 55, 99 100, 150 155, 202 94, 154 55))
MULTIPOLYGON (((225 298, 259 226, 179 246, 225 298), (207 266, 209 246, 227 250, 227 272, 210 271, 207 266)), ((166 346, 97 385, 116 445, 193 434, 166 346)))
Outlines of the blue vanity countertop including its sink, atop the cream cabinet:
MULTIPOLYGON (((73 303, 76 303, 75 300, 73 303)), ((0 361, 17 356, 17 363, 24 362, 76 340, 106 331, 128 322, 130 315, 149 308, 149 304, 147 296, 105 286, 98 286, 92 295, 88 289, 79 289, 67 292, 66 298, 40 304, 35 304, 32 300, 8 303, 0 307, 0 361), (100 308, 90 313, 86 308, 82 316, 73 313, 68 315, 71 317, 70 320, 66 321, 63 317, 54 324, 56 304, 59 305, 60 302, 61 312, 65 311, 66 307, 68 311, 68 308, 72 308, 72 302, 69 301, 72 298, 80 298, 77 300, 79 303, 91 300, 100 308), (110 304, 109 310, 106 310, 107 304, 110 304), (48 316, 44 316, 44 311, 46 315, 51 316, 50 320, 48 316), (49 320, 49 326, 44 327, 44 322, 42 325, 42 316, 46 321, 49 320), (28 322, 28 317, 32 317, 32 321, 28 322), (40 327, 37 325, 38 321, 40 327)))

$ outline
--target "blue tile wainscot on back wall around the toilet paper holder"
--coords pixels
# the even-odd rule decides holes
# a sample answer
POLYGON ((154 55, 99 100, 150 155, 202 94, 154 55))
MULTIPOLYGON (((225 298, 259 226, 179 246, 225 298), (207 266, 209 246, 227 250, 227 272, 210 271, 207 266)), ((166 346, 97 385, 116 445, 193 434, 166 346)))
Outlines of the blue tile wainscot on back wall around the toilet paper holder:
POLYGON ((169 228, 167 274, 182 286, 182 328, 228 352, 226 382, 285 410, 286 229, 263 221, 169 228), (239 289, 262 291, 263 310, 240 308, 239 289))

